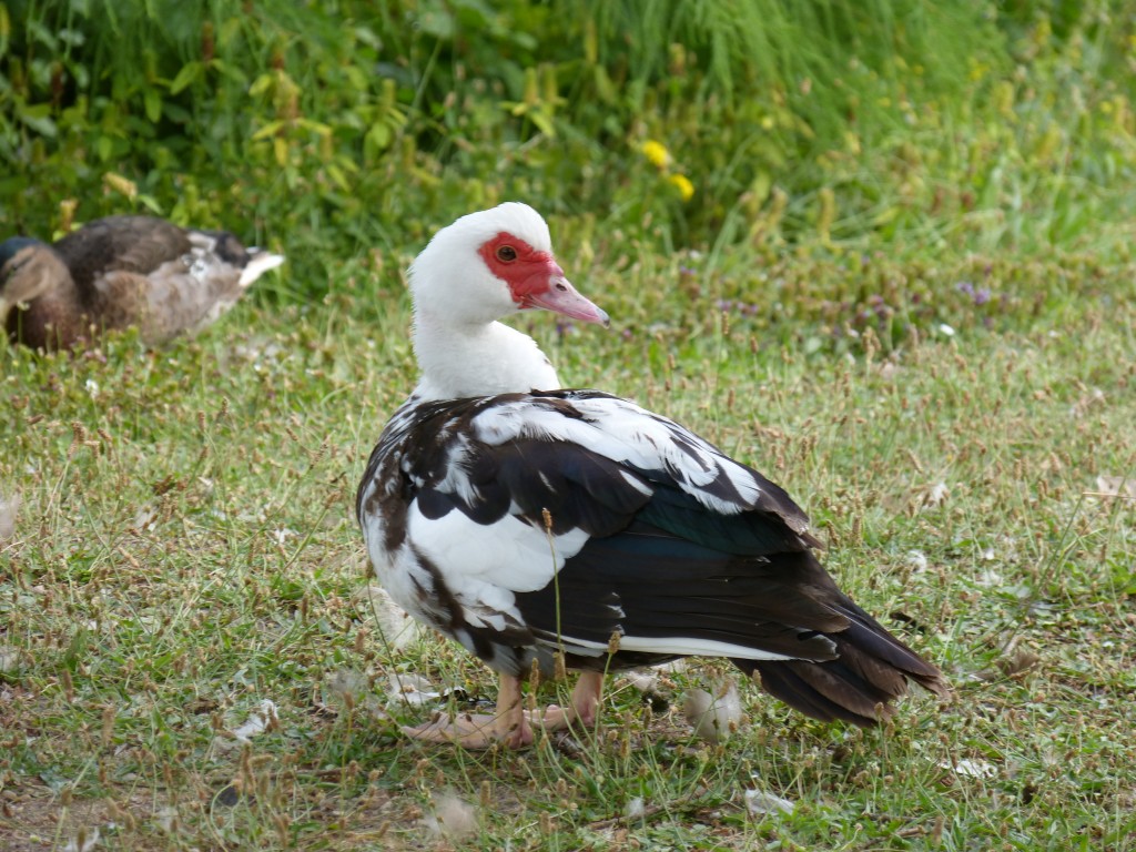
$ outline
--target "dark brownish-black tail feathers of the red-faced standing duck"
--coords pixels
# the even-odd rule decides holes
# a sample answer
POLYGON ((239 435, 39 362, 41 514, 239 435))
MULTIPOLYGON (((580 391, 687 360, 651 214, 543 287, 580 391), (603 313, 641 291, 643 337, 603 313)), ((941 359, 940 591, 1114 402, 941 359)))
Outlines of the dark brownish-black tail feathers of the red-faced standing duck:
POLYGON ((852 601, 845 598, 841 604, 851 624, 840 633, 825 634, 836 645, 836 659, 732 662, 747 675, 758 671, 766 691, 822 721, 878 725, 880 718, 894 712, 891 702, 908 691, 909 680, 936 695, 947 695, 950 690, 937 668, 852 601))

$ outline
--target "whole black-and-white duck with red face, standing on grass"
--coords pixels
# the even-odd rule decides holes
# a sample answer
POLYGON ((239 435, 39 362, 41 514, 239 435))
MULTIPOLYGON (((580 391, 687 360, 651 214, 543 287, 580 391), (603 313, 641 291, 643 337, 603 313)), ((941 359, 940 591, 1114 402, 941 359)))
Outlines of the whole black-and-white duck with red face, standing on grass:
POLYGON ((501 695, 493 717, 409 733, 529 742, 518 684, 534 661, 552 675, 558 651, 585 674, 545 722, 594 719, 604 671, 694 654, 729 658, 820 719, 875 724, 909 679, 945 693, 841 593, 780 487, 627 400, 559 390, 533 341, 494 321, 528 307, 607 321, 563 279, 535 211, 444 228, 411 289, 423 378, 357 512, 391 596, 499 671, 501 695))

